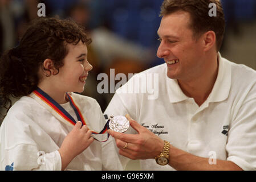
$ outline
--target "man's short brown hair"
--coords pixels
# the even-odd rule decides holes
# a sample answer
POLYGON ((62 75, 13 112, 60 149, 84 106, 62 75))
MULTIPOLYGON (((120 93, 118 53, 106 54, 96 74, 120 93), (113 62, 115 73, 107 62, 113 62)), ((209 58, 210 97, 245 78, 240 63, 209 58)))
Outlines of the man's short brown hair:
POLYGON ((176 11, 186 11, 190 14, 190 27, 197 38, 207 31, 216 34, 216 48, 220 51, 225 32, 225 17, 220 0, 165 0, 162 3, 160 16, 176 11), (216 5, 216 16, 209 16, 210 3, 216 5))

